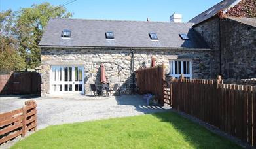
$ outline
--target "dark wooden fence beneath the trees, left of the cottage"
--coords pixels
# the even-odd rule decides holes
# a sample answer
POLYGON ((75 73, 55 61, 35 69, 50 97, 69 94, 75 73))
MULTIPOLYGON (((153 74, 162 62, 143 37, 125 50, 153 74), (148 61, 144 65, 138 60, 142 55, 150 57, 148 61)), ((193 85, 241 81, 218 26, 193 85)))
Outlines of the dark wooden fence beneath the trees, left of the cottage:
POLYGON ((40 94, 41 76, 36 72, 0 75, 0 94, 40 94))

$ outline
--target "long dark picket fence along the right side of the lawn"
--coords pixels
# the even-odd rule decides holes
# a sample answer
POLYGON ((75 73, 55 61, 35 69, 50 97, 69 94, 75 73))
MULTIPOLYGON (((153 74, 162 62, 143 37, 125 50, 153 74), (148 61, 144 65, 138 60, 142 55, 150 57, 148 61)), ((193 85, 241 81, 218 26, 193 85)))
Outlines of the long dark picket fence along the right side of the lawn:
POLYGON ((172 107, 256 146, 256 86, 172 80, 172 107))

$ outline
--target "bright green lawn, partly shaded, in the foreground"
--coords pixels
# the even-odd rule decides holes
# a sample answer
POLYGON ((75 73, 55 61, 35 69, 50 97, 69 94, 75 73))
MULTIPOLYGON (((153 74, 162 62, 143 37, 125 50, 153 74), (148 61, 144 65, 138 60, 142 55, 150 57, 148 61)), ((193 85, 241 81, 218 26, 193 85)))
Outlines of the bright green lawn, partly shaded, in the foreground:
POLYGON ((173 112, 46 127, 12 148, 239 148, 173 112))

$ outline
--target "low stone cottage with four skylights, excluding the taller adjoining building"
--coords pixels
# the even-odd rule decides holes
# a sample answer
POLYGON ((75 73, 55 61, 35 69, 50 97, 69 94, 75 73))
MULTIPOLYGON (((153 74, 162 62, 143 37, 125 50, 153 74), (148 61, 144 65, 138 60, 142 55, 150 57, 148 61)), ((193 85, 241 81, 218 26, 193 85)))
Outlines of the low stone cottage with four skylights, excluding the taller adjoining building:
POLYGON ((210 78, 211 49, 192 23, 50 19, 40 42, 41 95, 84 94, 99 84, 100 64, 107 82, 130 93, 134 71, 164 63, 166 74, 210 78))

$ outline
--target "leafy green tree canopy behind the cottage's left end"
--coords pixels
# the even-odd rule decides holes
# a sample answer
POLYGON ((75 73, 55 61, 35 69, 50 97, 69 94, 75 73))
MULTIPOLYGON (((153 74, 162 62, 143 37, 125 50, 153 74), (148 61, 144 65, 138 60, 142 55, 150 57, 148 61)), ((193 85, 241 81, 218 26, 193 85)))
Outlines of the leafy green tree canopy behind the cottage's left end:
POLYGON ((40 65, 38 46, 50 18, 69 18, 73 13, 50 3, 0 12, 0 69, 35 68, 40 65))

